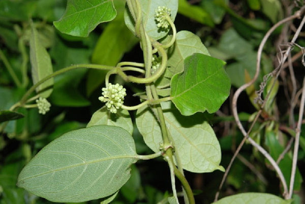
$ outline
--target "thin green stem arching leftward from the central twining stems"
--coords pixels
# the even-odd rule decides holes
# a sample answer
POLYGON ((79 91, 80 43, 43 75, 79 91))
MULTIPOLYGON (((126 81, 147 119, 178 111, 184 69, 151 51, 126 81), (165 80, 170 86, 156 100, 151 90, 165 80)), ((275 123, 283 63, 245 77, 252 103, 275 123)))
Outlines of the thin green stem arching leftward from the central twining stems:
POLYGON ((46 80, 52 78, 52 77, 55 77, 59 74, 63 74, 65 72, 68 72, 70 70, 74 70, 74 69, 78 69, 78 68, 86 68, 86 69, 100 69, 100 70, 112 70, 114 69, 115 67, 111 67, 111 66, 106 66, 106 65, 93 65, 93 64, 80 64, 80 65, 72 65, 72 66, 69 66, 69 67, 66 67, 66 68, 63 68, 63 69, 60 69, 48 76, 46 76, 45 78, 41 79, 40 81, 38 81, 36 84, 34 84, 24 95, 23 97, 21 98, 20 100, 20 106, 22 106, 27 98, 29 97, 29 95, 32 94, 32 92, 35 91, 35 89, 40 85, 42 84, 43 82, 45 82, 46 80))

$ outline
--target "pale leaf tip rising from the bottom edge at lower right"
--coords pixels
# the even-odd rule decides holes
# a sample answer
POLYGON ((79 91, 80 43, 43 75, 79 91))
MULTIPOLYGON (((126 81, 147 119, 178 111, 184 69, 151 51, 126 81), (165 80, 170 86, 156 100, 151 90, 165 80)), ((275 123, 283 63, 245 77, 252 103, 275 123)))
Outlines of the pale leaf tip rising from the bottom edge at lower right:
POLYGON ((240 193, 224 197, 214 204, 289 204, 292 200, 284 200, 278 196, 268 193, 240 193))

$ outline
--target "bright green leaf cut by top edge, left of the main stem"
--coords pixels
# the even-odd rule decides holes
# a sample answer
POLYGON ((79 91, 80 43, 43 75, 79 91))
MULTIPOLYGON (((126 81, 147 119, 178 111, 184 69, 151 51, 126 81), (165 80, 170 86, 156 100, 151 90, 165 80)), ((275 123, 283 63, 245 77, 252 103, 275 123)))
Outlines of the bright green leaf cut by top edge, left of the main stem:
POLYGON ((62 33, 87 37, 98 24, 115 16, 112 0, 68 0, 65 14, 53 24, 62 33))

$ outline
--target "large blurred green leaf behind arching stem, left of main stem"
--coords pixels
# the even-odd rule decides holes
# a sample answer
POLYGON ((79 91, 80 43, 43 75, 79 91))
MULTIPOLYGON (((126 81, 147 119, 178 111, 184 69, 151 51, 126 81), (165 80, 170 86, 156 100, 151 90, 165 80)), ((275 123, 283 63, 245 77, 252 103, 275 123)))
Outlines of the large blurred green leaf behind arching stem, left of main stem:
MULTIPOLYGON (((123 57, 139 40, 126 27, 124 14, 119 14, 104 29, 92 54, 92 62, 95 64, 116 66, 123 57)), ((89 70, 87 77, 87 95, 104 81, 108 71, 89 70)))

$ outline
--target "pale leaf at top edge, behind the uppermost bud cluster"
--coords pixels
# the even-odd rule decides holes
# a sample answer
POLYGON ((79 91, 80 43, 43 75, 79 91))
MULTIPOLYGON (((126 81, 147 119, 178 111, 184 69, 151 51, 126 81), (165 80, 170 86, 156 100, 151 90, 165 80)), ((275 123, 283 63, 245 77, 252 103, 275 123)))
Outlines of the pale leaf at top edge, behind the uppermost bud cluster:
MULTIPOLYGON (((171 9, 171 19, 174 21, 178 11, 178 0, 139 0, 138 2, 141 6, 142 21, 147 35, 155 40, 166 36, 170 29, 164 30, 157 27, 155 11, 158 6, 165 6, 171 9)), ((135 33, 134 19, 128 9, 126 9, 124 17, 127 27, 135 33)))

